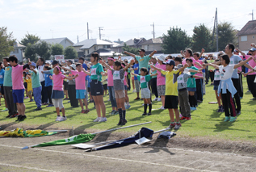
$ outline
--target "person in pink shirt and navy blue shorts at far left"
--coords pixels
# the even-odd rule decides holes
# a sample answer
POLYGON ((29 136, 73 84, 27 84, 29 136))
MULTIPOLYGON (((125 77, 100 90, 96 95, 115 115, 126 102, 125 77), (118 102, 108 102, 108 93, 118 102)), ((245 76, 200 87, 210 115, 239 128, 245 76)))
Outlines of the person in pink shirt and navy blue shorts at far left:
POLYGON ((23 70, 28 68, 31 62, 26 65, 18 65, 18 58, 15 55, 9 57, 9 63, 12 66, 11 78, 12 78, 12 96, 14 103, 18 109, 18 119, 16 121, 23 121, 27 118, 25 115, 24 99, 24 85, 23 85, 23 70))

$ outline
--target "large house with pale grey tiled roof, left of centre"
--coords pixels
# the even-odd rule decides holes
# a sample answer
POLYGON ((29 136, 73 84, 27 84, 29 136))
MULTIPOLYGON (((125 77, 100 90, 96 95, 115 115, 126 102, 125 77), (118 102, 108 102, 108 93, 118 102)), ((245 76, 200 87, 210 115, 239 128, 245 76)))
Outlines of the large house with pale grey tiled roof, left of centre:
MULTIPOLYGON (((99 40, 99 39, 89 39, 73 44, 73 47, 77 50, 79 57, 90 57, 92 52, 106 52, 111 53, 111 46, 113 43, 99 40)), ((112 54, 112 53, 111 53, 112 54)), ((99 54, 101 56, 101 54, 99 54)))

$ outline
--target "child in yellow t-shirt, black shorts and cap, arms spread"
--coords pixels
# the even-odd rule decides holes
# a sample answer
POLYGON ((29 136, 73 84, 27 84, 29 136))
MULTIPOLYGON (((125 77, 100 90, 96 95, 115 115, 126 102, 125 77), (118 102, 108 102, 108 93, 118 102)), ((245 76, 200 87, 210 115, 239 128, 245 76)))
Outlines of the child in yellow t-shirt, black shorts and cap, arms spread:
POLYGON ((166 70, 162 70, 160 68, 155 67, 154 65, 150 65, 152 69, 156 69, 161 72, 163 75, 166 75, 166 100, 165 100, 165 108, 169 110, 170 115, 170 128, 178 129, 182 125, 179 122, 179 112, 178 112, 178 82, 177 78, 179 75, 179 71, 183 71, 183 69, 187 68, 187 64, 178 70, 174 70, 175 62, 171 59, 168 59, 166 63, 166 70), (174 112, 176 117, 176 123, 174 122, 174 112))

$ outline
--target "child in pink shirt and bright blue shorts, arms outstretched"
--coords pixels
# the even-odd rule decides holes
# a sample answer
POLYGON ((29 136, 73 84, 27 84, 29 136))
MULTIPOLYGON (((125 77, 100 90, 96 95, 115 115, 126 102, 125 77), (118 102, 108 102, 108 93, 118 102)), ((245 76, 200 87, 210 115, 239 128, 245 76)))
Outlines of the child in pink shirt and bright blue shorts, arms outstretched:
POLYGON ((65 67, 62 67, 62 69, 68 70, 71 72, 73 75, 78 74, 78 78, 75 79, 76 81, 76 99, 78 99, 80 103, 80 107, 82 108, 81 113, 88 113, 90 110, 88 109, 88 103, 86 100, 86 76, 87 74, 84 72, 86 71, 84 68, 82 68, 82 64, 78 63, 76 65, 77 70, 71 70, 65 67), (83 108, 83 102, 85 103, 86 110, 83 108))

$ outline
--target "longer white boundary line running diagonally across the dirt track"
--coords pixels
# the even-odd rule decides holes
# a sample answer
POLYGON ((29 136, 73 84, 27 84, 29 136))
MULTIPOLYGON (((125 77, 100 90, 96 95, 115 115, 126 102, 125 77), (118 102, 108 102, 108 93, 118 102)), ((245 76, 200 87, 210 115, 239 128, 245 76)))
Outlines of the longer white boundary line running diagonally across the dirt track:
MULTIPOLYGON (((11 146, 11 145, 0 145, 0 146, 22 149, 22 147, 11 146)), ((57 151, 57 150, 35 149, 35 148, 33 148, 32 150, 40 150, 40 151, 51 152, 51 153, 65 153, 65 154, 83 155, 83 156, 87 156, 87 157, 99 157, 99 158, 105 158, 105 159, 110 159, 110 160, 115 160, 115 161, 117 160, 117 161, 124 161, 124 162, 136 162, 136 163, 149 164, 149 165, 154 165, 154 166, 168 166, 168 167, 173 167, 173 168, 177 168, 177 169, 184 169, 184 170, 212 172, 211 170, 199 170, 199 169, 189 168, 189 167, 185 167, 185 166, 172 166, 172 165, 168 165, 168 164, 159 164, 159 163, 154 163, 154 162, 141 162, 141 161, 136 161, 136 160, 122 159, 122 158, 118 158, 118 157, 103 157, 103 156, 98 156, 98 155, 90 155, 90 154, 86 154, 86 153, 69 153, 69 152, 62 152, 62 151, 57 151)), ((23 150, 23 151, 26 151, 26 150, 23 150)), ((20 166, 20 167, 22 167, 22 166, 20 166)))

